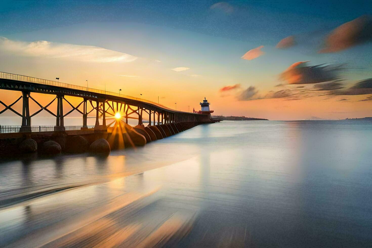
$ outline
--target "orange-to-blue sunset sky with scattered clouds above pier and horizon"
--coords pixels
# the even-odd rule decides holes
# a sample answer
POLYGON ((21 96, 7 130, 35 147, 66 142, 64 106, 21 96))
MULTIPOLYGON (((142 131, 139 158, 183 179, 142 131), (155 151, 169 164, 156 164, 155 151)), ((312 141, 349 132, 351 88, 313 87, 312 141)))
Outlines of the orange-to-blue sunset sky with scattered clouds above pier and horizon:
MULTIPOLYGON (((206 97, 216 115, 372 116, 372 1, 1 5, 3 72, 89 80, 182 111, 206 97)), ((0 90, 0 100, 19 94, 0 90)))

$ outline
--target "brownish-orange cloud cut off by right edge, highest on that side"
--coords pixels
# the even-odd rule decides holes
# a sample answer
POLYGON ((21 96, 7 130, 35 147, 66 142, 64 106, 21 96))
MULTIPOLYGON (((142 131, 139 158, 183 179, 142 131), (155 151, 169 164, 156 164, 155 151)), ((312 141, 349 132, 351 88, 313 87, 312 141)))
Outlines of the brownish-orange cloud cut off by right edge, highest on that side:
POLYGON ((334 29, 325 39, 320 53, 339 52, 372 40, 372 19, 360 16, 334 29))

